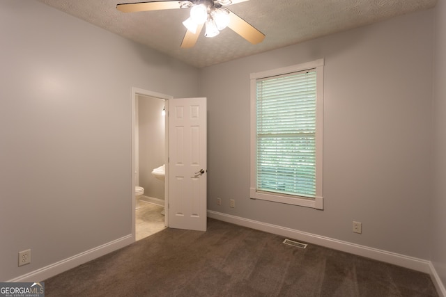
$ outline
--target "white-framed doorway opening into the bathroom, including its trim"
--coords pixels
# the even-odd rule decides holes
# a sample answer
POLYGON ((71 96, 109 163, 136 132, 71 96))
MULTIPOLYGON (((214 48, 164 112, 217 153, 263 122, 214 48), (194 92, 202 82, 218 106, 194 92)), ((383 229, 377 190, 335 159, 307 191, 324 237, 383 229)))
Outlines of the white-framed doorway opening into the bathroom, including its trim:
POLYGON ((168 203, 167 178, 152 175, 167 163, 164 110, 169 95, 132 88, 132 189, 144 188, 139 201, 132 191, 132 234, 134 240, 150 236, 168 225, 164 208, 168 203))

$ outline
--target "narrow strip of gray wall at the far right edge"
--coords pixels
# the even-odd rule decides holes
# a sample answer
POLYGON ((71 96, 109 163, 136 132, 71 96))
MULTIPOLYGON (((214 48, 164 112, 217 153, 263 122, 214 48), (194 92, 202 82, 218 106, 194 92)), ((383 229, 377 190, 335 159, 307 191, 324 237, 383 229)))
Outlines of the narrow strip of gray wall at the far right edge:
POLYGON ((438 1, 433 88, 433 200, 431 261, 446 284, 446 3, 438 1))

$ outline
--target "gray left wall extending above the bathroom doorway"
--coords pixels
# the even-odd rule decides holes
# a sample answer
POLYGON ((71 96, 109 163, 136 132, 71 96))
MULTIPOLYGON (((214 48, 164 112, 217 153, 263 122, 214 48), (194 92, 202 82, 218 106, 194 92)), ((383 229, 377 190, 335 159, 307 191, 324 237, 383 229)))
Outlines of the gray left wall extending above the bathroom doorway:
POLYGON ((37 1, 0 27, 5 281, 132 233, 131 88, 196 97, 198 71, 37 1))

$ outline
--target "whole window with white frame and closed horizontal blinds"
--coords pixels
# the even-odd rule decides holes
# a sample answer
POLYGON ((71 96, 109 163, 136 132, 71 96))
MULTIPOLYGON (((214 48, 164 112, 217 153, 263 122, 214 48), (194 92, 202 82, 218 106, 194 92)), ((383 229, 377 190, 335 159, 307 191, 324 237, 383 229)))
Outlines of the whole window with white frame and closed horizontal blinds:
POLYGON ((323 209, 323 59, 251 74, 252 199, 323 209))

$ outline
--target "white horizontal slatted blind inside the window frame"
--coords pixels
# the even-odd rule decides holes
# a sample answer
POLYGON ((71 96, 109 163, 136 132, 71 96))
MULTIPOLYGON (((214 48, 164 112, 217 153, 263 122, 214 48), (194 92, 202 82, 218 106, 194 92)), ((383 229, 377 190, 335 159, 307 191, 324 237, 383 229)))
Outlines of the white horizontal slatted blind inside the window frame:
POLYGON ((316 197, 316 70, 256 79, 256 181, 316 197))

